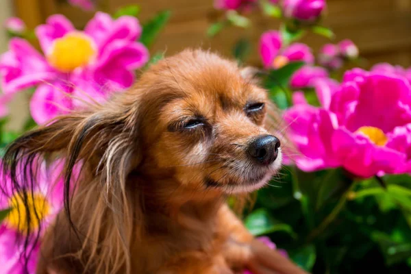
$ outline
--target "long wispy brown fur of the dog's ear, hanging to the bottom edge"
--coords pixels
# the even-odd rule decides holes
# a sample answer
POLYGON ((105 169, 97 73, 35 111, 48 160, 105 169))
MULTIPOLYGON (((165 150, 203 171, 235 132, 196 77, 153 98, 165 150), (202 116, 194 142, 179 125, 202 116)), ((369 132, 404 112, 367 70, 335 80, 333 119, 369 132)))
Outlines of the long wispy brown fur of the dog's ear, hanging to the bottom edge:
MULTIPOLYGON (((88 258, 85 267, 95 273, 115 273, 119 269, 129 273, 130 270, 132 222, 139 212, 135 212, 138 207, 132 207, 134 199, 130 201, 126 180, 140 160, 137 127, 135 103, 114 100, 92 110, 61 116, 45 127, 27 132, 12 142, 3 158, 3 176, 10 176, 12 192, 21 194, 26 212, 29 212, 27 197, 36 186, 36 162, 55 155, 64 159, 66 216, 75 234, 85 234, 82 237, 82 251, 88 258), (79 165, 82 180, 73 190, 73 170, 79 165), (82 223, 87 223, 87 229, 79 225, 82 223), (103 242, 105 248, 100 249, 98 242, 103 242)), ((5 187, 0 186, 3 194, 7 193, 5 187)), ((34 215, 38 219, 37 212, 35 208, 34 215)), ((30 231, 30 224, 36 220, 26 215, 23 221, 29 225, 23 234, 27 235, 24 254, 27 266, 32 252, 30 246, 35 246, 35 243, 29 244, 33 242, 29 235, 34 233, 30 231)), ((40 230, 41 227, 34 242, 41 235, 40 230)), ((77 238, 80 239, 78 234, 77 238)))

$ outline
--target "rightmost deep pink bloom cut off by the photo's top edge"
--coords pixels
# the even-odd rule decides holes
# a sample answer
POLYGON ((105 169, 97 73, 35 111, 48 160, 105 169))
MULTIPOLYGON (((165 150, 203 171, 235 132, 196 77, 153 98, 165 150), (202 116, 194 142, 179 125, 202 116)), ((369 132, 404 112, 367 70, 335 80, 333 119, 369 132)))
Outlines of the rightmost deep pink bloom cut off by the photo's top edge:
POLYGON ((325 0, 284 0, 284 16, 300 21, 315 21, 325 8, 325 0))

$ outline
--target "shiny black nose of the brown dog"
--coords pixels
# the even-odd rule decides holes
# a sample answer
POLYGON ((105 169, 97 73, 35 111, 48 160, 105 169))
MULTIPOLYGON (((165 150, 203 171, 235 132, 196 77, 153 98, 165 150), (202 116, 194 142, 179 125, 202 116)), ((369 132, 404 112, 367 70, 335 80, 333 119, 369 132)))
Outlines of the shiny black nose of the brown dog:
POLYGON ((281 143, 277 137, 262 135, 249 144, 247 152, 260 164, 271 164, 277 159, 279 145, 281 143))

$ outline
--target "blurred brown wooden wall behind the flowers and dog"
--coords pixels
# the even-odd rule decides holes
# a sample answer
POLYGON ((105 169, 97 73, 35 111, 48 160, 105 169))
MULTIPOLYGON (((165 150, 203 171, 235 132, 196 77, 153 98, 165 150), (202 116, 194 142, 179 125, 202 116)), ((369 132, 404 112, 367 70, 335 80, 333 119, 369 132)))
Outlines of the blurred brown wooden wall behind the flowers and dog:
MULTIPOLYGON (((123 5, 141 6, 140 20, 145 21, 160 10, 171 10, 171 22, 155 43, 152 52, 172 54, 185 47, 203 47, 229 55, 240 37, 253 40, 251 64, 260 64, 256 45, 266 29, 276 29, 277 21, 252 14, 250 29, 229 28, 213 39, 206 38, 206 29, 219 12, 212 8, 213 0, 97 0, 99 9, 113 11, 123 5)), ((14 0, 18 15, 32 27, 53 13, 68 16, 77 27, 83 27, 92 13, 73 8, 65 0, 14 0), (29 6, 31 8, 29 8, 29 6)), ((327 0, 325 25, 336 33, 336 40, 350 38, 369 60, 369 65, 390 62, 411 66, 411 0, 327 0)), ((310 35, 304 39, 314 51, 327 39, 310 35)))

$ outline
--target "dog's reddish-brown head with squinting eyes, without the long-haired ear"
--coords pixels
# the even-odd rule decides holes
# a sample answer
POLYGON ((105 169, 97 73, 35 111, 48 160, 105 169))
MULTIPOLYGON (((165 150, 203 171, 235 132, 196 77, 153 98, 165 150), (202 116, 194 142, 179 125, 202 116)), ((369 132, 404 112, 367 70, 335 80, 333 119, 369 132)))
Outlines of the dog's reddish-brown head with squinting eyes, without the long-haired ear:
POLYGON ((142 75, 140 171, 172 174, 199 191, 263 186, 282 154, 267 128, 272 105, 253 76, 251 69, 203 51, 184 51, 142 75))

